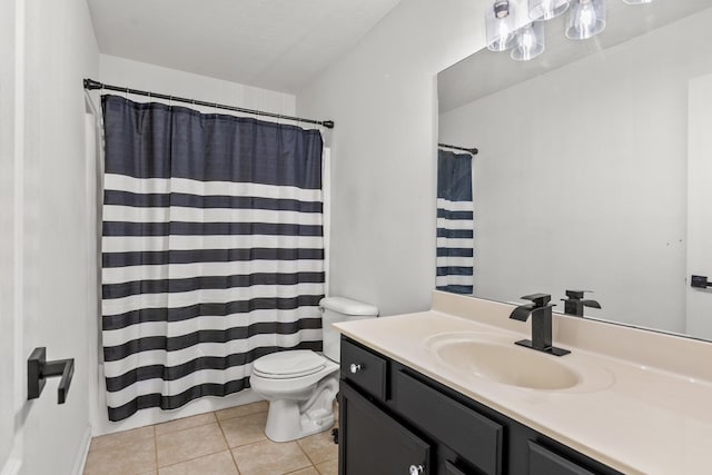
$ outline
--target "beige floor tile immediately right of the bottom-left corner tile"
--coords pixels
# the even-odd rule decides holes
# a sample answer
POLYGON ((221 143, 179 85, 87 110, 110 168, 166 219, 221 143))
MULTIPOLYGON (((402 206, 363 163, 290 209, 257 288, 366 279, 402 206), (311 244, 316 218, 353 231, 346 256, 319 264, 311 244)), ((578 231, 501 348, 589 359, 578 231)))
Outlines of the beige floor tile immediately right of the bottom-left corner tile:
POLYGON ((177 464, 227 448, 217 424, 192 427, 156 437, 158 466, 177 464))

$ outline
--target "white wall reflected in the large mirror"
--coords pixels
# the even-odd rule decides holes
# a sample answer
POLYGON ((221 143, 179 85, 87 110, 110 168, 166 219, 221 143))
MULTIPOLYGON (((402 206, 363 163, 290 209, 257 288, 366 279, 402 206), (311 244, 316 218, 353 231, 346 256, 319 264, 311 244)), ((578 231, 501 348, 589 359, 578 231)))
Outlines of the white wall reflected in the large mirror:
POLYGON ((710 20, 712 10, 441 116, 443 141, 479 148, 476 295, 591 289, 594 315, 685 331, 686 90, 712 68, 710 20))

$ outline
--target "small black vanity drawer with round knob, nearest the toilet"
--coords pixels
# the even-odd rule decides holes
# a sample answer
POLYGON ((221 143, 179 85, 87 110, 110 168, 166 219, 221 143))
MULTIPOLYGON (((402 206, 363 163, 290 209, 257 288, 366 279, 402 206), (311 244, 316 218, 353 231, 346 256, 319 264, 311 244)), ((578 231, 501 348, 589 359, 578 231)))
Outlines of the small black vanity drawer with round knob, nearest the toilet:
POLYGON ((369 395, 386 400, 386 360, 353 343, 342 340, 342 377, 369 395))

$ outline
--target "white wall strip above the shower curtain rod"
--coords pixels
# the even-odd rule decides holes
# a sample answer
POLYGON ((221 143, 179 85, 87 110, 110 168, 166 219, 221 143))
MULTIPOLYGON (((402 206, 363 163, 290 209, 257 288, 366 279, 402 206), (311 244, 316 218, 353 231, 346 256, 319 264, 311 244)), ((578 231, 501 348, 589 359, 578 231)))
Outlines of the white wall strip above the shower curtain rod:
MULTIPOLYGON (((107 85, 147 90, 150 92, 180 96, 189 99, 238 106, 268 112, 295 113, 296 98, 293 95, 255 88, 237 82, 208 78, 206 76, 168 69, 145 62, 131 61, 115 56, 100 56, 100 78, 93 78, 107 85)), ((121 95, 120 92, 111 92, 121 95)), ((147 102, 147 97, 128 96, 137 102, 147 102)), ((192 107, 190 105, 181 105, 192 107)), ((214 113, 215 109, 202 108, 214 113)), ((219 111, 230 113, 229 111, 219 111)), ((271 119, 268 119, 271 120, 271 119)))

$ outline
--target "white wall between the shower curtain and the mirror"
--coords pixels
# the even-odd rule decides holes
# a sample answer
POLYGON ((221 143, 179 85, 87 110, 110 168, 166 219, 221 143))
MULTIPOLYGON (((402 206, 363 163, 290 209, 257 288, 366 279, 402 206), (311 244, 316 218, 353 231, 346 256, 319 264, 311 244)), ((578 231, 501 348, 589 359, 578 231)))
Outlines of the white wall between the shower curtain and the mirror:
POLYGON ((484 46, 486 1, 404 0, 297 95, 333 119, 330 293, 382 315, 435 286, 437 72, 484 46))

